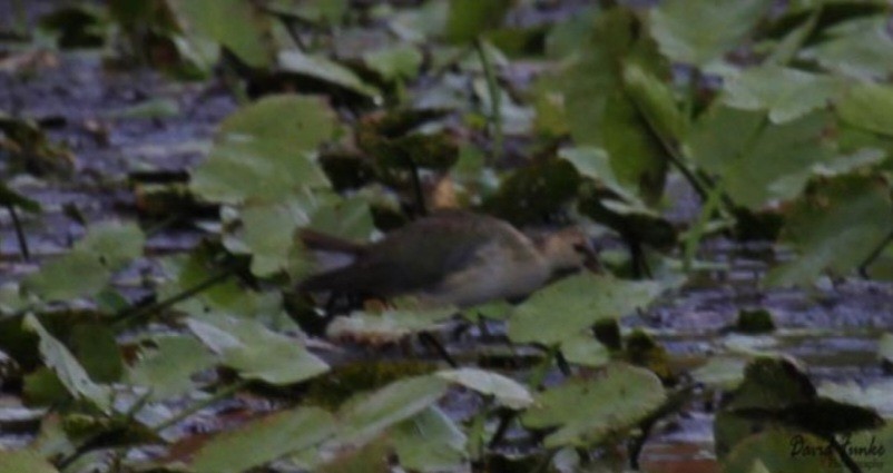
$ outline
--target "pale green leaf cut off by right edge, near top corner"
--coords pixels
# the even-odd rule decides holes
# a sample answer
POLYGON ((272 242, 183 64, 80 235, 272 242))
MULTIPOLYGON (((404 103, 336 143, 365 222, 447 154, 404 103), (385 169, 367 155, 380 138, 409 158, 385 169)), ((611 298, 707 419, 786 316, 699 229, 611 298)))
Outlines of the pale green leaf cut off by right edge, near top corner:
POLYGON ((893 75, 893 38, 886 14, 845 21, 830 28, 827 39, 801 53, 848 77, 880 80, 893 75))

